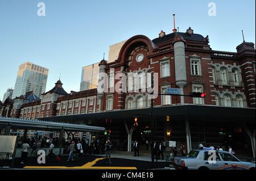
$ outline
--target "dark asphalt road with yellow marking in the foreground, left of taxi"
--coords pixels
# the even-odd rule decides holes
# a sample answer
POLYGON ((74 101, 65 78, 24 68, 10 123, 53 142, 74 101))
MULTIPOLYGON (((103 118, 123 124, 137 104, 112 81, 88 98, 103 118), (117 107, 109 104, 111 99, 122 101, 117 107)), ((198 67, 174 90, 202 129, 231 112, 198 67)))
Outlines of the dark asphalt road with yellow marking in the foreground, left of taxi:
MULTIPOLYGON (((56 162, 46 158, 45 164, 39 164, 37 157, 28 158, 26 165, 20 164, 20 158, 16 158, 13 168, 16 169, 162 169, 168 167, 166 162, 148 162, 134 159, 112 158, 112 164, 106 163, 104 157, 96 155, 81 155, 75 161, 67 162, 68 156, 61 156, 61 161, 56 162)), ((11 161, 0 160, 0 166, 10 166, 11 161)))

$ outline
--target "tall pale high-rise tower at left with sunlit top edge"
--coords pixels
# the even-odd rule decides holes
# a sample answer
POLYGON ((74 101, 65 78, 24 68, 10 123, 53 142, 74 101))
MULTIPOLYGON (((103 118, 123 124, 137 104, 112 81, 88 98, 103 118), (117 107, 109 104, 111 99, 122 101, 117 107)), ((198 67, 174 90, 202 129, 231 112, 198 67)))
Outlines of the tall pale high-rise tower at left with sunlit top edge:
POLYGON ((42 66, 25 62, 19 66, 13 99, 26 92, 33 91, 36 96, 41 98, 41 94, 46 91, 46 83, 49 69, 42 66))

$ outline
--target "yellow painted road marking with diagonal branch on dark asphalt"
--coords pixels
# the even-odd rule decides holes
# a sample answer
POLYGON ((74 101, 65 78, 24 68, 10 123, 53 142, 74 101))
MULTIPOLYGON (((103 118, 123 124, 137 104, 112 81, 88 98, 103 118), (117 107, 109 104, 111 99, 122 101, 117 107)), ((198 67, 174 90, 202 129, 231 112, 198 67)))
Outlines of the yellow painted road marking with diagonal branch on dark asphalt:
POLYGON ((137 170, 136 167, 93 167, 96 162, 105 158, 96 158, 92 162, 88 162, 82 166, 66 167, 66 166, 25 166, 23 169, 115 169, 115 170, 137 170))

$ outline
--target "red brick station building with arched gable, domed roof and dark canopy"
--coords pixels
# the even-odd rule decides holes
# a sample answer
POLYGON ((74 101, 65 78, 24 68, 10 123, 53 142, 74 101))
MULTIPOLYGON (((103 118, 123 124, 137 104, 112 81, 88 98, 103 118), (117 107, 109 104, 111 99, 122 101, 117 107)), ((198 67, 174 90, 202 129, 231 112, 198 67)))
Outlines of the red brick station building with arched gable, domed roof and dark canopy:
MULTIPOLYGON (((187 32, 161 31, 154 40, 144 35, 131 37, 117 60, 102 60, 99 66, 100 73, 108 74, 110 87, 118 84, 114 76, 117 73, 157 73, 158 85, 154 89, 159 94, 166 93, 169 87, 179 88, 185 95, 207 93, 204 99, 174 95, 154 99, 155 140, 166 141, 167 146, 168 141, 176 141, 177 146, 184 142, 188 151, 197 148, 199 142, 224 148, 230 145, 235 150, 242 150, 246 144, 255 157, 253 43, 244 41, 237 46, 237 52, 223 52, 212 50, 209 37, 194 33, 190 27, 187 32)), ((105 127, 111 130, 112 141, 125 143, 128 151, 131 140, 137 139, 142 145, 150 140, 148 92, 93 89, 68 94, 59 80, 42 95, 42 100, 24 99, 6 99, 1 103, 0 116, 105 127), (135 117, 137 127, 133 126, 135 117)), ((95 136, 105 138, 103 133, 95 136)))

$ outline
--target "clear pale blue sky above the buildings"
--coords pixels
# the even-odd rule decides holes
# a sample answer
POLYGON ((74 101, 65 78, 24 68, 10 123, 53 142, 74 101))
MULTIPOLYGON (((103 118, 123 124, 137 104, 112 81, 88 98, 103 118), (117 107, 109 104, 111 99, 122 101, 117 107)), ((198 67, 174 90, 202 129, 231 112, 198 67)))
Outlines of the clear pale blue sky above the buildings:
POLYGON ((61 73, 66 91, 79 91, 81 68, 108 57, 109 45, 143 34, 150 39, 163 30, 171 33, 172 14, 184 32, 209 35, 214 50, 236 51, 246 41, 255 43, 255 0, 1 0, 0 96, 14 87, 18 66, 25 61, 49 69, 48 91, 61 73), (38 16, 38 2, 46 16, 38 16), (208 3, 217 6, 208 16, 208 3))

